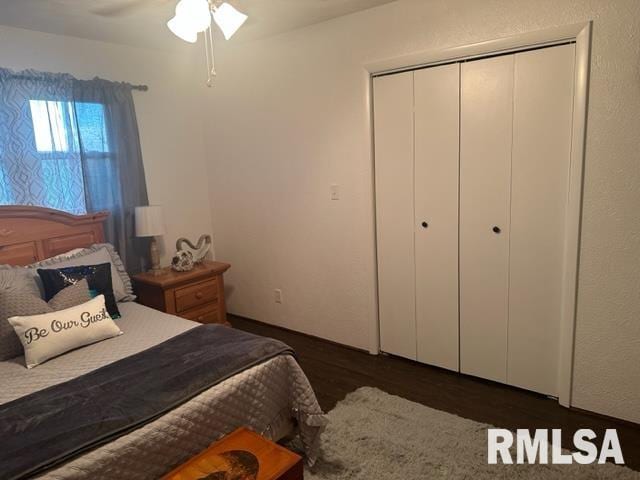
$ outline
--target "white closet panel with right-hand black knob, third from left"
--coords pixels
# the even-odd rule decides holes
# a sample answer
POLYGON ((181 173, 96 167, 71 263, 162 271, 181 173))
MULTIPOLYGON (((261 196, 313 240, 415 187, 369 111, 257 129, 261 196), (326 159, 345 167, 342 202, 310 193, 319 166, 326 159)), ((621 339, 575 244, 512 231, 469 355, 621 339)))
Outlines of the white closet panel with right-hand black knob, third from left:
POLYGON ((461 67, 460 369, 500 382, 507 380, 513 62, 505 55, 461 67))

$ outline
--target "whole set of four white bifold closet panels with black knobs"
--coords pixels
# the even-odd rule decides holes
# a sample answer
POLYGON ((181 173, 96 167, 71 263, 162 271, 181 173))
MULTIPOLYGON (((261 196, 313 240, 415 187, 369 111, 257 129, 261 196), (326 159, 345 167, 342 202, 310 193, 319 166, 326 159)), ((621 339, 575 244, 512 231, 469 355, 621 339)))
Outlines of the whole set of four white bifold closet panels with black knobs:
POLYGON ((382 351, 557 395, 574 57, 374 77, 382 351))

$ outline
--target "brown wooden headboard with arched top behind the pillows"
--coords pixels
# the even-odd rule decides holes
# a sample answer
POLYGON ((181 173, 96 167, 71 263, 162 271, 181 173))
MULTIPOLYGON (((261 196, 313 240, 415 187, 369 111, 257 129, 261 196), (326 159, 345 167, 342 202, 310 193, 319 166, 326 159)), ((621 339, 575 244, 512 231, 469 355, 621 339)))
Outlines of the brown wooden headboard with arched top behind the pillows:
POLYGON ((104 242, 108 212, 71 215, 42 207, 0 206, 0 264, 30 263, 104 242))

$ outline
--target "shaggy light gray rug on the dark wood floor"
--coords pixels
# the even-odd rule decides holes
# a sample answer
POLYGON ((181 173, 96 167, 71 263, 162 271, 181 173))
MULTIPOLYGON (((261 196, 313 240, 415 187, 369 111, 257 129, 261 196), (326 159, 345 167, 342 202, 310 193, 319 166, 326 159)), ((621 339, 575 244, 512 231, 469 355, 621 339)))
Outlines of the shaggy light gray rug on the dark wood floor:
POLYGON ((328 416, 320 458, 306 480, 640 479, 611 463, 488 465, 489 425, 376 388, 350 393, 328 416))

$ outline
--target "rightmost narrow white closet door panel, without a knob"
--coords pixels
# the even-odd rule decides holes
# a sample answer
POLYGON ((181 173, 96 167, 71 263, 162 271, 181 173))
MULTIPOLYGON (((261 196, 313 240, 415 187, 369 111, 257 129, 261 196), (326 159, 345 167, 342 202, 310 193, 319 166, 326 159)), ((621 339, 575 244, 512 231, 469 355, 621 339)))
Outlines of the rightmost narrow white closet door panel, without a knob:
POLYGON ((558 394, 574 45, 515 56, 508 382, 558 394))

